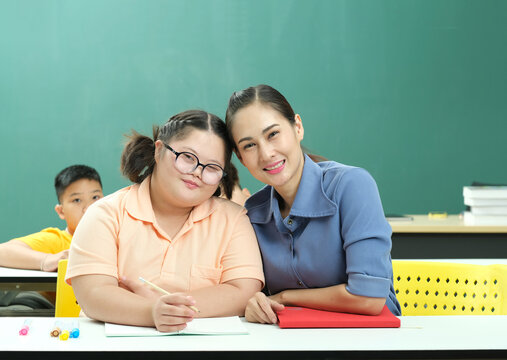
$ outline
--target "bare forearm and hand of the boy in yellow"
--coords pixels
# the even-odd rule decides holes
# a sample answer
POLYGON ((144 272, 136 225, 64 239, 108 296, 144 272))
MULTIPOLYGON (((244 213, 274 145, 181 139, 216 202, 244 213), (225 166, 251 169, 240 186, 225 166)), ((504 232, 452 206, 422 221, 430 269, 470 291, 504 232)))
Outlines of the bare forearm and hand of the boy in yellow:
POLYGON ((0 266, 17 269, 56 271, 58 261, 67 259, 68 250, 48 254, 33 250, 28 244, 19 240, 10 240, 0 245, 0 266))

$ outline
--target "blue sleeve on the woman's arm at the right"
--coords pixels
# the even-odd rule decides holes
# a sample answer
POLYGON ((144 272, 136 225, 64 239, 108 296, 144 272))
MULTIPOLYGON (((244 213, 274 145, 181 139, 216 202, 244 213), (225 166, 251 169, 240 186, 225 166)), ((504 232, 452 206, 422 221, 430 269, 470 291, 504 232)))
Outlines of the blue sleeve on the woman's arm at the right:
POLYGON ((368 297, 389 296, 392 282, 391 226, 373 177, 364 169, 347 171, 337 187, 347 290, 368 297))

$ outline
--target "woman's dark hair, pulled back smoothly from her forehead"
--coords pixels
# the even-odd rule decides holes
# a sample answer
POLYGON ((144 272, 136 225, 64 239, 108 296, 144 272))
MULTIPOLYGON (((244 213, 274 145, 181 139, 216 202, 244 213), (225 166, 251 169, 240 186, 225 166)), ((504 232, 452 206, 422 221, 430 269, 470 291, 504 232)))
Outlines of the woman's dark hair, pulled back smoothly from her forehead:
MULTIPOLYGON (((234 115, 244 107, 258 102, 263 105, 268 105, 274 110, 278 111, 287 121, 294 125, 296 123, 296 113, 290 106, 289 102, 278 90, 269 85, 251 86, 244 90, 235 91, 229 99, 229 106, 225 113, 225 124, 227 125, 227 133, 229 134, 230 141, 236 149, 236 144, 232 138, 232 124, 234 122, 234 115)), ((320 155, 308 154, 305 147, 303 151, 315 162, 325 161, 326 158, 320 155)))

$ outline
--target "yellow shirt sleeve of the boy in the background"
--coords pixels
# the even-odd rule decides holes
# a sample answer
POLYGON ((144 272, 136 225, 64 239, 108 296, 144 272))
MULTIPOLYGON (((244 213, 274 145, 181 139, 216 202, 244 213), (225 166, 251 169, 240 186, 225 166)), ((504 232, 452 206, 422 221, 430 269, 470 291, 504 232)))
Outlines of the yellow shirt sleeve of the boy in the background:
POLYGON ((22 241, 35 251, 56 254, 70 247, 72 235, 57 228, 47 228, 13 240, 22 241))

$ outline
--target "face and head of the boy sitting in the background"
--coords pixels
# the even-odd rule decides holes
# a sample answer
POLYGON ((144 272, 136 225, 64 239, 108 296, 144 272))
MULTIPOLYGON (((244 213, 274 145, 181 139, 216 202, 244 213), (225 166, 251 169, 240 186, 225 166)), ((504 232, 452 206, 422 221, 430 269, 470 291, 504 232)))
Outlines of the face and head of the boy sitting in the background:
POLYGON ((102 187, 98 181, 80 179, 70 184, 60 197, 60 204, 55 206, 60 219, 67 222, 67 231, 74 235, 77 224, 88 206, 103 198, 102 187))

